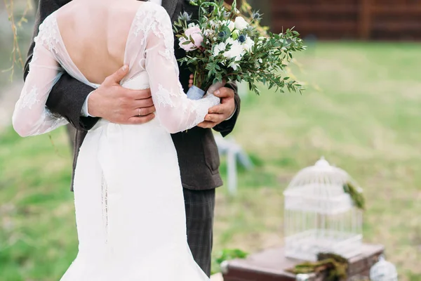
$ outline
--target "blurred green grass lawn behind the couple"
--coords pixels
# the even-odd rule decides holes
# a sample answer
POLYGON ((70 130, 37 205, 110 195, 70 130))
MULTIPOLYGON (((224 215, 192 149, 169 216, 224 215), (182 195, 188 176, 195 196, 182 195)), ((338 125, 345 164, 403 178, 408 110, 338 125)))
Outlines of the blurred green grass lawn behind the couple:
MULTIPOLYGON (((325 156, 364 188, 364 240, 385 244, 399 280, 421 280, 420 51, 421 44, 316 44, 298 58, 296 74, 309 82, 302 96, 243 98, 232 136, 257 166, 240 169, 236 197, 218 189, 215 257, 282 244, 282 192, 325 156)), ((51 139, 0 136, 0 281, 58 280, 76 255, 65 131, 51 139)))

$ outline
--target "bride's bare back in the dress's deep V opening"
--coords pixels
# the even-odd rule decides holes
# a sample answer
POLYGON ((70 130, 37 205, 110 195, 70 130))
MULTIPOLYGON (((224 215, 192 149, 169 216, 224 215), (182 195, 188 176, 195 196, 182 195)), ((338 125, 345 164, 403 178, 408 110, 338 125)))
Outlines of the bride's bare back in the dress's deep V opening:
POLYGON ((73 63, 95 84, 123 65, 128 32, 138 8, 134 0, 74 0, 62 7, 57 21, 73 63))

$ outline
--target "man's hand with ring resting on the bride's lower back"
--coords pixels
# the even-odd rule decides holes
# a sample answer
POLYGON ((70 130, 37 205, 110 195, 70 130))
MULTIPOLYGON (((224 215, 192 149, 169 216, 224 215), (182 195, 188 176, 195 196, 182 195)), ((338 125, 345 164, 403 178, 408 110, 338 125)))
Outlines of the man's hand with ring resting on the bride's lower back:
POLYGON ((154 119, 150 89, 131 90, 120 85, 128 73, 125 65, 107 77, 88 98, 88 112, 116 124, 144 124, 154 119))

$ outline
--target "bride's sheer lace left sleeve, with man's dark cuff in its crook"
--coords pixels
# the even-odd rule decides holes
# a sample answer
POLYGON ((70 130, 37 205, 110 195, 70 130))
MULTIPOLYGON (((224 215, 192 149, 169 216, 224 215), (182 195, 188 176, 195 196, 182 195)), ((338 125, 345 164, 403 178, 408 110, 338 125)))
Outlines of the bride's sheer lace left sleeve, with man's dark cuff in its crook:
POLYGON ((66 119, 53 115, 46 107, 48 94, 62 75, 62 69, 52 53, 54 48, 45 44, 46 40, 48 34, 41 32, 40 27, 29 74, 13 112, 13 128, 20 136, 48 133, 67 124, 66 119))

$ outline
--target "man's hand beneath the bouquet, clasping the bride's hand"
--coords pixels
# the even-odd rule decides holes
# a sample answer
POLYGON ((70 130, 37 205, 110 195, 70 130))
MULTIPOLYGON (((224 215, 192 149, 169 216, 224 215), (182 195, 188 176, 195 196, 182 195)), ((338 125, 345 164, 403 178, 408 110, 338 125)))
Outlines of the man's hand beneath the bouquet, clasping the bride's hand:
POLYGON ((221 104, 209 108, 205 121, 197 125, 201 128, 213 128, 232 117, 235 112, 234 90, 222 87, 213 94, 221 99, 221 104))

